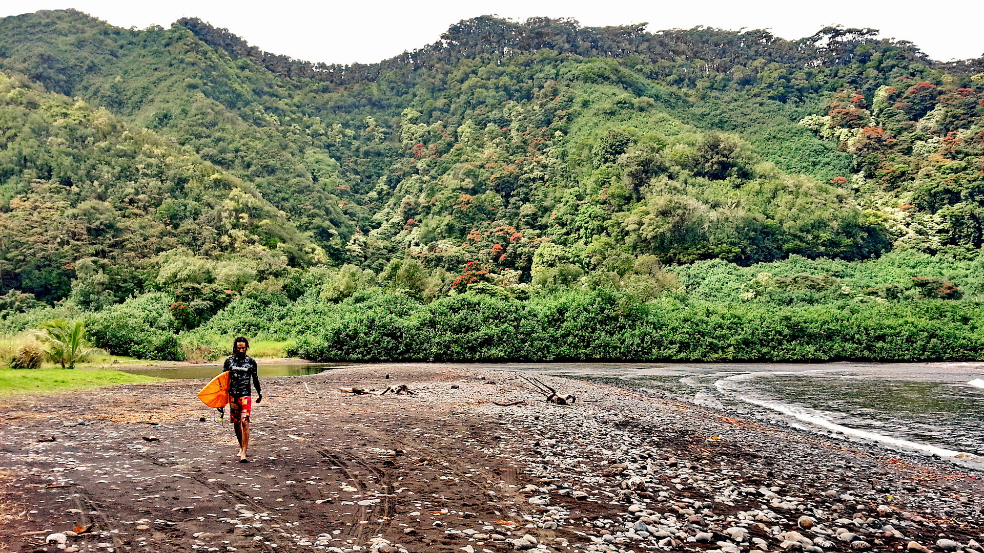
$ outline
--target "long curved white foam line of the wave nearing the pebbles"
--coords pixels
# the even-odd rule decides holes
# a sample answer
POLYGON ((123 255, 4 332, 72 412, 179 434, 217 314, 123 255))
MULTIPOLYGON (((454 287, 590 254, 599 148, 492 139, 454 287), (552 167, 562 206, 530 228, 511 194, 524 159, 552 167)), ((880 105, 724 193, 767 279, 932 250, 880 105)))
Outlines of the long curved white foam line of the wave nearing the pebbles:
MULTIPOLYGON (((823 371, 817 371, 823 372, 823 371)), ((751 403, 753 405, 759 405, 760 407, 766 407, 773 411, 780 412, 784 415, 791 416, 797 420, 810 423, 814 426, 819 426, 821 428, 826 428, 834 432, 843 432, 845 435, 854 436, 856 438, 864 438, 866 440, 872 440, 882 444, 887 444, 899 448, 905 448, 909 450, 915 450, 920 452, 926 452, 928 454, 936 454, 940 457, 949 457, 953 459, 959 459, 963 461, 978 461, 984 462, 984 457, 975 456, 966 452, 958 452, 954 450, 948 450, 945 448, 938 448, 936 446, 931 446, 929 444, 920 444, 918 442, 910 442, 908 440, 901 440, 898 438, 892 438, 891 436, 885 436, 883 434, 878 434, 876 432, 869 432, 866 430, 858 430, 857 428, 850 428, 848 426, 843 426, 837 424, 830 420, 827 413, 823 411, 818 411, 814 409, 808 409, 805 407, 800 407, 796 405, 790 405, 788 403, 783 403, 781 401, 776 401, 774 399, 761 399, 756 398, 755 394, 743 389, 740 383, 747 382, 750 380, 755 380, 761 376, 771 376, 780 374, 795 374, 790 372, 755 372, 755 373, 745 373, 740 375, 733 375, 714 383, 714 387, 725 395, 731 395, 736 399, 745 401, 746 403, 751 403)), ((981 388, 984 388, 984 381, 978 379, 981 383, 981 388)), ((971 383, 974 381, 971 381, 971 383)), ((971 384, 968 383, 968 384, 971 384)), ((977 385, 973 385, 977 386, 977 385)))

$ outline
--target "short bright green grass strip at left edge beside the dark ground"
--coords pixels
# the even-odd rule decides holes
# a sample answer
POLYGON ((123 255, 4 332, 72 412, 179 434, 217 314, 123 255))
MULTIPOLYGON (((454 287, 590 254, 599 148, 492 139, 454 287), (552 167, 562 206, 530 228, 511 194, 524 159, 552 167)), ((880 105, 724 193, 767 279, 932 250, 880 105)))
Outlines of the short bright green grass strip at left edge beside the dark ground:
POLYGON ((166 380, 107 369, 0 369, 0 396, 85 390, 166 380))

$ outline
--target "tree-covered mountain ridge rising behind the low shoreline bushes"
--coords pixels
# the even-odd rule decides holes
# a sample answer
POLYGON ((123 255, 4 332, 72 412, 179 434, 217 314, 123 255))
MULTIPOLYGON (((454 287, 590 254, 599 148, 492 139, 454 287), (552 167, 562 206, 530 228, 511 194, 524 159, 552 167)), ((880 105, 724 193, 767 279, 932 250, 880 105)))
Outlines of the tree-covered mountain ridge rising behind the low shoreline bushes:
MULTIPOLYGON (((602 288, 646 301, 698 289, 695 275, 717 278, 719 268, 688 269, 714 260, 898 251, 972 263, 984 228, 980 60, 941 64, 876 34, 784 40, 481 17, 379 64, 330 66, 194 19, 137 31, 75 11, 5 18, 0 69, 12 77, 0 130, 33 138, 24 154, 0 153, 0 222, 15 237, 0 244, 0 291, 13 290, 17 311, 27 304, 11 294, 98 310, 162 290, 174 300, 169 328, 181 331, 233 296, 294 301, 312 288, 332 302, 367 289, 429 302, 602 288), (61 137, 63 119, 38 111, 59 102, 94 114, 72 130, 83 138, 61 137), (97 152, 106 141, 85 139, 96 116, 118 129, 97 152), (132 200, 117 190, 143 191, 143 168, 107 177, 63 167, 145 165, 117 145, 124 135, 171 153, 157 164, 180 158, 225 184, 192 196, 161 169, 167 193, 123 216, 132 200), (219 215, 239 210, 221 207, 232 190, 259 212, 219 215), (143 249, 119 236, 60 241, 48 248, 57 255, 38 257, 49 240, 21 221, 42 201, 66 225, 79 206, 104 202, 115 206, 107 220, 160 238, 141 238, 143 249), (191 232, 216 221, 226 226, 213 238, 191 232), (233 229, 248 240, 220 241, 233 229), (197 314, 182 311, 193 304, 197 314)), ((744 279, 728 289, 746 302, 798 286, 828 299, 977 297, 972 278, 960 293, 944 286, 965 269, 915 267, 925 264, 865 276, 868 292, 843 297, 835 276, 720 277, 744 279)))

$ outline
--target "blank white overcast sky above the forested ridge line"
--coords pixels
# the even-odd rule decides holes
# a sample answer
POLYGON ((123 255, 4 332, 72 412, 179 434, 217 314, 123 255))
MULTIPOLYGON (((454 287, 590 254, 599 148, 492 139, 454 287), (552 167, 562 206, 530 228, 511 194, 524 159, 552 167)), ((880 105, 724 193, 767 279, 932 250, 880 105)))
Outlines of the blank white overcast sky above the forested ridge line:
POLYGON ((373 63, 435 41, 452 24, 496 14, 524 19, 574 18, 584 26, 648 22, 648 31, 699 25, 720 29, 770 29, 784 38, 809 36, 827 25, 873 28, 910 40, 930 57, 947 61, 984 55, 984 3, 912 0, 831 3, 802 0, 327 1, 280 0, 5 0, 0 17, 75 8, 118 27, 169 27, 197 17, 224 27, 269 52, 325 63, 373 63), (69 1, 71 3, 61 3, 69 1))

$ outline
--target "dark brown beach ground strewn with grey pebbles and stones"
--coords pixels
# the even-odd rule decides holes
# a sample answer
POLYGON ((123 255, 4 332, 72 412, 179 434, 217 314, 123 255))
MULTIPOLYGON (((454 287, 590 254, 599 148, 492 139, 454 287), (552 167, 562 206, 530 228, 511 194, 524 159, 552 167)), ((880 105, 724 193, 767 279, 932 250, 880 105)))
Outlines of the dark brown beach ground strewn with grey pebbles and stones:
POLYGON ((269 379, 247 463, 203 382, 7 399, 0 550, 984 552, 973 467, 521 374, 269 379))

